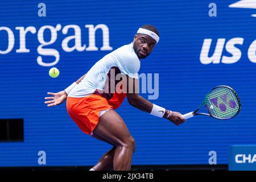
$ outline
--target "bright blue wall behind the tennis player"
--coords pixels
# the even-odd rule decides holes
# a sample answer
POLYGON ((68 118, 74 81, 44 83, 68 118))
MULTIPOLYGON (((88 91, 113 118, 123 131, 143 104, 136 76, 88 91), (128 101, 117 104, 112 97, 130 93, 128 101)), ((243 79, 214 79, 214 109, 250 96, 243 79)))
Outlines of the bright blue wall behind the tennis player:
MULTIPOLYGON (((198 116, 179 127, 143 113, 125 100, 117 111, 137 143, 133 165, 208 164, 209 151, 217 152, 217 164, 227 164, 230 145, 255 143, 255 9, 230 7, 238 2, 234 0, 214 1, 217 16, 211 17, 208 6, 212 1, 58 0, 43 1, 46 17, 39 17, 40 2, 0 1, 0 118, 24 118, 24 142, 0 142, 0 166, 39 166, 39 151, 46 152, 47 166, 92 166, 110 148, 82 133, 69 118, 65 103, 56 107, 44 104, 47 92, 67 88, 111 52, 100 49, 101 30, 96 32, 98 51, 64 51, 61 43, 67 36, 74 35, 74 31, 64 35, 62 29, 70 24, 80 27, 81 43, 86 47, 89 35, 85 25, 105 24, 113 50, 129 44, 143 24, 156 26, 160 42, 151 55, 141 61, 140 73, 159 73, 159 98, 151 101, 157 105, 188 113, 217 85, 232 86, 241 98, 241 113, 232 120, 198 116), (39 39, 42 39, 39 29, 57 24, 61 30, 57 31, 56 41, 43 48, 56 49, 59 61, 52 66, 40 65, 38 56, 42 56, 44 63, 52 63, 55 57, 38 52, 39 39), (20 47, 20 33, 15 27, 29 26, 36 30, 35 34, 26 35, 26 48, 30 52, 16 52, 20 47), (212 39, 209 52, 208 39, 212 39), (212 59, 208 60, 203 54, 209 53, 211 57, 217 40, 224 43, 224 48, 221 51, 218 45, 220 48, 211 63, 212 59), (231 64, 222 63, 223 56, 227 56, 225 60, 231 64), (209 64, 205 64, 207 60, 209 64), (53 66, 60 70, 57 78, 48 76, 53 66)), ((251 7, 255 8, 255 3, 251 7)), ((44 31, 46 42, 51 36, 49 30, 44 31)), ((74 41, 68 45, 72 47, 74 41)), ((142 96, 147 98, 147 94, 142 96)))

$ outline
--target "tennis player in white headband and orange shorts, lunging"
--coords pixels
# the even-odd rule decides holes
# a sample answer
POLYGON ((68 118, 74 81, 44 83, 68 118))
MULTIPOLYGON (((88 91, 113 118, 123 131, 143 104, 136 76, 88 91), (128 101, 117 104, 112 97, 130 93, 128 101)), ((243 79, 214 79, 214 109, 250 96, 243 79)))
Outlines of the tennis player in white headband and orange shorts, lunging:
POLYGON ((140 60, 146 58, 159 42, 154 26, 138 29, 133 42, 104 56, 86 73, 59 93, 46 97, 47 106, 56 106, 67 99, 67 111, 80 129, 113 146, 90 169, 122 170, 131 168, 135 141, 125 122, 114 110, 127 96, 129 104, 156 117, 166 118, 175 125, 185 121, 178 112, 167 110, 139 96, 138 71, 140 60), (122 77, 118 77, 121 75, 122 77), (114 89, 113 89, 114 88, 114 89))

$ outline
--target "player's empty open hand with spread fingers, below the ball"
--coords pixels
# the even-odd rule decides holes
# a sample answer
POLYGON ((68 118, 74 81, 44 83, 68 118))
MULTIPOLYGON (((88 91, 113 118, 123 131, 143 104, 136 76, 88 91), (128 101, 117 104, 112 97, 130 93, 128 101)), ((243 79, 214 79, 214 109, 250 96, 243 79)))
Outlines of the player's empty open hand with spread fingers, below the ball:
POLYGON ((64 90, 58 93, 47 92, 47 94, 54 96, 54 97, 45 97, 46 100, 50 100, 50 101, 44 102, 44 104, 48 104, 47 107, 60 105, 68 97, 68 94, 64 90))

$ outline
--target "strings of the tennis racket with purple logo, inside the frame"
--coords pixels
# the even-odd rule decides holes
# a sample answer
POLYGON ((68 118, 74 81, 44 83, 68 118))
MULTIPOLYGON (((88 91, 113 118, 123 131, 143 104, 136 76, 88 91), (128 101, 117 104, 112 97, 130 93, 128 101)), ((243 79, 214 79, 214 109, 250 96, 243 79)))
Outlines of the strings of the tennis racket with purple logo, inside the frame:
POLYGON ((208 94, 205 104, 211 115, 221 119, 232 118, 240 110, 236 93, 224 86, 213 89, 208 94))

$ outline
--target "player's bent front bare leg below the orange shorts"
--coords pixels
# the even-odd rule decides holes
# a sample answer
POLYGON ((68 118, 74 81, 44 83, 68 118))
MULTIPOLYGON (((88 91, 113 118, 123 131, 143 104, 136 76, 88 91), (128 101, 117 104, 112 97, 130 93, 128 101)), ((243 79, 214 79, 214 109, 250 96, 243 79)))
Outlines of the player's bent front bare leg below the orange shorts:
POLYGON ((117 112, 111 109, 102 115, 93 133, 116 147, 113 158, 114 170, 131 169, 135 141, 117 112))

